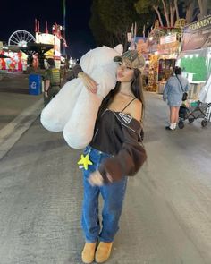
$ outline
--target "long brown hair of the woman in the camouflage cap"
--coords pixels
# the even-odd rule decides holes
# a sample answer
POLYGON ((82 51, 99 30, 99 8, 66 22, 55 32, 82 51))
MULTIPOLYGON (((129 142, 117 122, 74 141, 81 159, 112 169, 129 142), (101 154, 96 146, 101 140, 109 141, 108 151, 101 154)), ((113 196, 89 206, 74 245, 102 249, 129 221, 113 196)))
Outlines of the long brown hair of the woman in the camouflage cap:
MULTIPOLYGON (((103 114, 105 109, 112 103, 114 100, 114 96, 120 90, 121 82, 117 81, 114 89, 112 89, 108 95, 103 99, 101 106, 99 107, 99 111, 97 114, 97 121, 100 116, 103 114)), ((144 115, 145 109, 145 102, 144 102, 144 94, 143 94, 143 86, 142 86, 142 79, 141 79, 141 72, 138 69, 134 69, 134 76, 133 80, 131 81, 131 92, 133 93, 135 98, 138 98, 142 103, 142 111, 141 111, 141 120, 144 115)))

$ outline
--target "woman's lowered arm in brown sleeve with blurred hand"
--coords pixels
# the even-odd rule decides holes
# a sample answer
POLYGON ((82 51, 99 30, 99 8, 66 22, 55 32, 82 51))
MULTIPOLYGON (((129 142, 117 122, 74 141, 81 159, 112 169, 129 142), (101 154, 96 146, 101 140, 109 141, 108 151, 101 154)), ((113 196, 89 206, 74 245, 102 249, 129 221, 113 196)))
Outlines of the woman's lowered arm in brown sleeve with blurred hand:
MULTIPOLYGON (((132 119, 132 123, 138 126, 138 122, 132 119)), ((102 185, 113 183, 126 175, 135 175, 147 159, 147 153, 140 142, 139 130, 132 129, 134 125, 128 125, 122 121, 124 141, 122 149, 112 158, 106 158, 99 166, 98 171, 89 176, 89 183, 102 185)), ((139 125, 140 129, 140 125, 139 125)))

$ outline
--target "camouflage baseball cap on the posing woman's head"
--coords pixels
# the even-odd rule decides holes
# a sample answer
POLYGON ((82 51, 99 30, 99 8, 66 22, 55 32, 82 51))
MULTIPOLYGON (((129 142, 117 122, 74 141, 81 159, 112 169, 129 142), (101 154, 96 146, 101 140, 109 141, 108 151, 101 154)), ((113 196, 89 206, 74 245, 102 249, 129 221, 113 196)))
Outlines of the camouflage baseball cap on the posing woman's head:
POLYGON ((128 50, 122 55, 114 57, 114 62, 124 62, 127 67, 139 69, 144 67, 145 59, 143 55, 139 55, 137 50, 128 50))

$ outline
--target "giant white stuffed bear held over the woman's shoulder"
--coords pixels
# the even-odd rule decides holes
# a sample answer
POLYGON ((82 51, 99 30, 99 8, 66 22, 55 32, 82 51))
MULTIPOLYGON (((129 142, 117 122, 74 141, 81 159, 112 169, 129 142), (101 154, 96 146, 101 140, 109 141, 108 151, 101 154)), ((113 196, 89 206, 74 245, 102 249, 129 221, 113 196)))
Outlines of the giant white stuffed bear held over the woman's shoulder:
POLYGON ((80 66, 97 81, 97 94, 89 92, 80 78, 68 81, 41 113, 43 126, 63 132, 64 140, 74 149, 83 149, 93 137, 98 108, 116 83, 116 55, 122 55, 122 45, 97 47, 83 55, 80 66))

